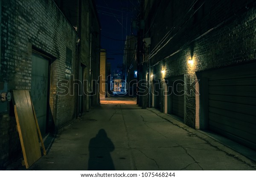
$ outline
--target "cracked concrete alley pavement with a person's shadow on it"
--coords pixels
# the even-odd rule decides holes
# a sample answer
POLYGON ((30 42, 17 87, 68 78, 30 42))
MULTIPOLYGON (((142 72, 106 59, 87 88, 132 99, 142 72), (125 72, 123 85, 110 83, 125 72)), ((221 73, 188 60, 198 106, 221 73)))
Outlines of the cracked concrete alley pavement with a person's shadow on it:
POLYGON ((29 170, 256 170, 240 153, 131 98, 101 101, 29 170))

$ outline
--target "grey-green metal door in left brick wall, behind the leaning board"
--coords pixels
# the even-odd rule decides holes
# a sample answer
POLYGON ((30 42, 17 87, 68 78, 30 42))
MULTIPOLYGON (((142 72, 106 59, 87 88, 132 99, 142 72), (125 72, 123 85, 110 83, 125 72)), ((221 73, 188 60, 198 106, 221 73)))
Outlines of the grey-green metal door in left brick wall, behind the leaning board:
POLYGON ((31 98, 42 136, 46 133, 49 61, 32 54, 31 98))

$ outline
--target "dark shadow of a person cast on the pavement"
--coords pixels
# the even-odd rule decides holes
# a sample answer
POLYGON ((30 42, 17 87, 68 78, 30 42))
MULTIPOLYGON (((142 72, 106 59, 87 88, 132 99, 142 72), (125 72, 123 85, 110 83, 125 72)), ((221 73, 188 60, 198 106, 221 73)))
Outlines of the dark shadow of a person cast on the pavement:
POLYGON ((110 152, 115 149, 104 129, 99 130, 96 137, 90 139, 88 170, 115 170, 110 152))

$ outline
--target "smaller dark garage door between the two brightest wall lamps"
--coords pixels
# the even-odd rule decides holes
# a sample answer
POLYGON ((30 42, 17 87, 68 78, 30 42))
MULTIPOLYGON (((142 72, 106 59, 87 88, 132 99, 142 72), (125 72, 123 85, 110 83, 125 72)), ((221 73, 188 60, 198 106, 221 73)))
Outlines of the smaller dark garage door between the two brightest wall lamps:
POLYGON ((167 97, 167 113, 184 118, 184 81, 183 76, 167 79, 169 87, 167 97), (170 90, 172 89, 172 90, 170 90))

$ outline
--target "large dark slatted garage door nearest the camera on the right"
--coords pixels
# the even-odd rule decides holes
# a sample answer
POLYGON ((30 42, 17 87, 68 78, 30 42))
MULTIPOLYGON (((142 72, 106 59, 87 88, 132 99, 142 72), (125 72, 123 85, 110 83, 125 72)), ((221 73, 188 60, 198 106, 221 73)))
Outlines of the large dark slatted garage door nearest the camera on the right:
POLYGON ((256 149, 256 64, 208 78, 209 129, 256 149))

